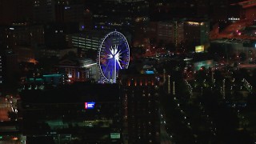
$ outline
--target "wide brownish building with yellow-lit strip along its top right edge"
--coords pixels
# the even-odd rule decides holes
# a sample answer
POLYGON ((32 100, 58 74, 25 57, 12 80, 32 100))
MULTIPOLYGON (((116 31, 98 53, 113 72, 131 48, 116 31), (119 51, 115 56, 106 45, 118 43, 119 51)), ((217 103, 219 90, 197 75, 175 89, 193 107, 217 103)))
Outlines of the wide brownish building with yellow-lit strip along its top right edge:
MULTIPOLYGON (((186 43, 190 46, 209 43, 210 24, 203 20, 180 20, 157 22, 154 30, 158 42, 173 43, 174 46, 186 43)), ((151 34, 153 35, 153 34, 151 34)))

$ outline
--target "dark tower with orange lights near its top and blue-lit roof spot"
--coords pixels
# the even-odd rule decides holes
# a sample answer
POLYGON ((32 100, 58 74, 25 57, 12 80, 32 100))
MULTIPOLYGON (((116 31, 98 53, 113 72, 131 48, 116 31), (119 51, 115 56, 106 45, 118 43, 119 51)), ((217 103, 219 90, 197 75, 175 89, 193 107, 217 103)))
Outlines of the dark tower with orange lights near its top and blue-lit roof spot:
POLYGON ((154 70, 121 72, 124 140, 127 143, 160 143, 158 79, 154 70))

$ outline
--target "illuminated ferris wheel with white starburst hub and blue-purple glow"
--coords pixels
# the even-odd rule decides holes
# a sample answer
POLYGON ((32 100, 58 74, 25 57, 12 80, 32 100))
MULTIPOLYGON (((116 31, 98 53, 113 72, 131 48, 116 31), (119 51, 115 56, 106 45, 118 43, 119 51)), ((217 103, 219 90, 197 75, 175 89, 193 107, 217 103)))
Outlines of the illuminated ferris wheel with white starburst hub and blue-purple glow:
POLYGON ((118 31, 106 34, 98 50, 98 66, 102 81, 115 83, 118 71, 127 69, 129 62, 130 48, 126 37, 118 31))

